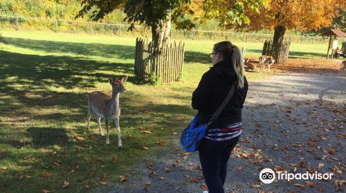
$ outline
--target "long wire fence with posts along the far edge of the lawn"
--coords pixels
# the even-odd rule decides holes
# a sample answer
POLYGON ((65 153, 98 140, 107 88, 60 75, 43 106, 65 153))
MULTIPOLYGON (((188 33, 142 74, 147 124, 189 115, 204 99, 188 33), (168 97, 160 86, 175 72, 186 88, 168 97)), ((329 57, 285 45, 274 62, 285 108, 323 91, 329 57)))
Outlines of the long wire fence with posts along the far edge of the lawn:
MULTIPOLYGON (((75 21, 64 19, 44 19, 37 17, 15 17, 0 15, 2 29, 15 30, 48 30, 52 32, 89 33, 89 34, 114 34, 120 37, 151 37, 150 28, 136 26, 129 31, 129 25, 75 21)), ((264 42, 273 39, 273 34, 235 33, 212 30, 176 30, 172 29, 172 39, 210 39, 214 41, 230 40, 242 42, 264 42)), ((294 43, 328 43, 328 37, 309 37, 286 35, 285 39, 294 43)), ((345 38, 339 39, 346 41, 345 38)))

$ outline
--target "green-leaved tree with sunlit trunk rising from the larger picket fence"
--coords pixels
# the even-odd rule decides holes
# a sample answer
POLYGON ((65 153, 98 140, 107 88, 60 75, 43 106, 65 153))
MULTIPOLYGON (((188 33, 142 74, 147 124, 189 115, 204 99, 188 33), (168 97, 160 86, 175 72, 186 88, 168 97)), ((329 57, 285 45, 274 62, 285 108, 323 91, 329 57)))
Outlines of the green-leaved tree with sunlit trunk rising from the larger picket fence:
POLYGON ((182 17, 179 10, 188 3, 190 0, 83 0, 83 8, 76 17, 83 17, 91 11, 91 19, 98 21, 113 10, 122 8, 127 15, 124 21, 131 23, 129 30, 134 28, 135 23, 151 27, 154 45, 161 47, 170 41, 172 19, 177 21, 182 17))

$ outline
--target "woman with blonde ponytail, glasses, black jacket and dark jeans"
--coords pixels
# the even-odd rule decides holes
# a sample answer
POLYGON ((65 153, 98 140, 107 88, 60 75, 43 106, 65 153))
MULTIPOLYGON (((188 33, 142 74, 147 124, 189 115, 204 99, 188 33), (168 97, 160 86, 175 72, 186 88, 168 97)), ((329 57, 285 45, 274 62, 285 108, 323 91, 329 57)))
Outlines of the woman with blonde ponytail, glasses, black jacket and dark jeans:
POLYGON ((198 110, 199 123, 208 123, 231 86, 232 98, 213 121, 199 144, 199 160, 209 193, 224 192, 227 162, 242 133, 242 107, 248 91, 244 77, 243 58, 239 48, 229 41, 214 45, 212 68, 208 70, 192 94, 192 108, 198 110))

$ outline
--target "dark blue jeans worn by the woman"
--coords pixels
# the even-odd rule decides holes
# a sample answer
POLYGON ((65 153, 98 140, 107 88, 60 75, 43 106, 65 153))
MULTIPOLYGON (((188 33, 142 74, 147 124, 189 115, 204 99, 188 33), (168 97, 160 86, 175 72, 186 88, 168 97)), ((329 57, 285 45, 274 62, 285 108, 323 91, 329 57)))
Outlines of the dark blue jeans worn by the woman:
POLYGON ((224 193, 227 162, 239 141, 239 136, 226 141, 202 139, 199 144, 199 160, 209 193, 224 193))

